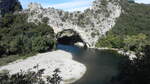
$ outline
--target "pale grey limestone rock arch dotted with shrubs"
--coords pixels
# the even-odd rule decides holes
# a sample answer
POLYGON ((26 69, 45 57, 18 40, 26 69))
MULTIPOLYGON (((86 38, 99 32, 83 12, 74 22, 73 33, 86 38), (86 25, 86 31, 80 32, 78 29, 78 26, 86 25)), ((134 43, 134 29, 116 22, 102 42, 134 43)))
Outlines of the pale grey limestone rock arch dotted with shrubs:
POLYGON ((83 41, 94 47, 97 40, 105 35, 114 25, 121 14, 120 0, 96 0, 91 8, 84 12, 65 12, 54 8, 42 8, 38 4, 29 5, 28 22, 42 22, 49 19, 55 33, 64 29, 73 29, 78 32, 83 41))

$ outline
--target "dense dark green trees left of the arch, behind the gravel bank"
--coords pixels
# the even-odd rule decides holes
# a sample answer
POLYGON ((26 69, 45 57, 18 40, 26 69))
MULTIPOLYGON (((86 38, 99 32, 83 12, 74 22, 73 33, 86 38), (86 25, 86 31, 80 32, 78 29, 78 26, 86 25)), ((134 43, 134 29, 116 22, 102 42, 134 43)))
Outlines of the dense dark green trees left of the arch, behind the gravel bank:
POLYGON ((26 14, 5 14, 0 19, 0 57, 46 52, 55 47, 54 31, 47 24, 28 23, 26 14))

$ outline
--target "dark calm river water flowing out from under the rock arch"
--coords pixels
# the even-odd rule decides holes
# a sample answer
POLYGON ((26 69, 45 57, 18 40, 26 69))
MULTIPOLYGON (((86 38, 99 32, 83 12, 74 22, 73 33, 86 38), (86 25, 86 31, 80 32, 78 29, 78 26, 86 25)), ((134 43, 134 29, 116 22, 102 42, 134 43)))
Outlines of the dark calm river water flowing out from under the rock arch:
POLYGON ((123 59, 123 56, 111 50, 82 49, 60 44, 57 49, 72 53, 76 61, 87 67, 85 75, 73 84, 108 84, 118 74, 118 65, 123 59))

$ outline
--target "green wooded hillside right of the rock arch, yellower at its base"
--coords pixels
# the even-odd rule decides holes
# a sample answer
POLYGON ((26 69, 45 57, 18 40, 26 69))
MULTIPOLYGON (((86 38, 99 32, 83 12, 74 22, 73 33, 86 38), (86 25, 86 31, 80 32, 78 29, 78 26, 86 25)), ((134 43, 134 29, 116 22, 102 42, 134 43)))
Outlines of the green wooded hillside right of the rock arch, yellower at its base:
POLYGON ((123 48, 139 51, 150 43, 150 5, 122 3, 123 13, 97 47, 123 48), (139 44, 139 45, 138 45, 139 44))

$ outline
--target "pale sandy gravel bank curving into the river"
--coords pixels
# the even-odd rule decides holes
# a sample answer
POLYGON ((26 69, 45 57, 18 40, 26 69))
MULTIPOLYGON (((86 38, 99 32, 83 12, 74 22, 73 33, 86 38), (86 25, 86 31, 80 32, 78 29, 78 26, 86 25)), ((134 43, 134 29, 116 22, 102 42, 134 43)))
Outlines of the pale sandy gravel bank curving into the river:
POLYGON ((43 77, 51 76, 56 68, 60 69, 60 76, 63 78, 63 84, 73 83, 86 73, 86 66, 80 62, 73 60, 71 53, 56 50, 47 53, 37 54, 35 56, 29 57, 25 60, 17 60, 15 62, 9 63, 0 67, 1 70, 8 70, 10 74, 15 74, 17 72, 27 71, 37 71, 33 67, 39 65, 39 69, 45 69, 43 77))

